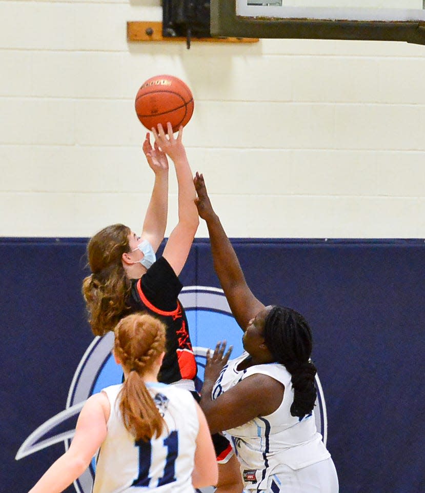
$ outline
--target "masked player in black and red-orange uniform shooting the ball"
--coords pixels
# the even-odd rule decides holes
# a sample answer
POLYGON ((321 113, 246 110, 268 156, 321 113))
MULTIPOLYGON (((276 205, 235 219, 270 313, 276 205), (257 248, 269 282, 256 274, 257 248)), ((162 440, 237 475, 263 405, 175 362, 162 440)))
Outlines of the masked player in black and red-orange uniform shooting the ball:
MULTIPOLYGON (((123 224, 96 233, 87 246, 92 274, 83 281, 83 294, 94 334, 113 330, 130 313, 147 311, 167 326, 167 352, 158 380, 191 390, 194 397, 196 361, 188 323, 178 294, 183 287, 178 275, 183 269, 199 224, 192 172, 182 143, 183 129, 174 137, 158 125, 149 134, 143 150, 155 173, 155 183, 140 236, 123 224), (173 161, 178 183, 178 223, 172 230, 162 257, 155 252, 164 239, 167 221, 168 160, 173 161)), ((240 493, 242 483, 229 442, 214 439, 219 467, 218 493, 240 493)))

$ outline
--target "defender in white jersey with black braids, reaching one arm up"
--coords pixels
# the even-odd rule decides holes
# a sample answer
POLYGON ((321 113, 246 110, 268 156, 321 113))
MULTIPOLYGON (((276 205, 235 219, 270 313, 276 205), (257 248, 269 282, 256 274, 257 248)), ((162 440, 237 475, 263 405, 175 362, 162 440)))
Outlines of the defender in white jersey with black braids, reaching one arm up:
POLYGON ((338 478, 313 414, 316 368, 312 334, 291 308, 265 306, 250 290, 236 253, 194 178, 196 205, 207 222, 214 268, 232 313, 245 332, 245 353, 227 364, 218 343, 207 355, 201 407, 212 433, 227 431, 244 488, 261 493, 337 493, 338 478))

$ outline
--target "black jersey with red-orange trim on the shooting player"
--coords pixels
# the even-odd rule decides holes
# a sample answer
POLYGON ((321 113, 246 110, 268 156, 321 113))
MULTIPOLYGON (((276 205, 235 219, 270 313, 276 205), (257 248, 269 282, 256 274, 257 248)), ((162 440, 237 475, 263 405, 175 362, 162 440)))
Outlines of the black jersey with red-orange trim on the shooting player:
POLYGON ((140 279, 133 279, 129 305, 147 311, 167 327, 166 354, 158 381, 173 383, 196 377, 196 361, 189 337, 184 307, 178 300, 183 285, 164 257, 160 257, 140 279))

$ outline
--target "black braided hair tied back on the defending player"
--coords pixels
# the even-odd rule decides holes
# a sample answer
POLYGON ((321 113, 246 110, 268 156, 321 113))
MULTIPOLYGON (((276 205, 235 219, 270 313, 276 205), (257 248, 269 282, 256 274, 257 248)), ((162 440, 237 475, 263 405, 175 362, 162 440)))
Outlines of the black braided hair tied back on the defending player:
POLYGON ((266 317, 264 337, 275 361, 292 375, 291 415, 308 415, 316 401, 316 367, 310 360, 313 339, 309 324, 292 308, 273 306, 266 317))

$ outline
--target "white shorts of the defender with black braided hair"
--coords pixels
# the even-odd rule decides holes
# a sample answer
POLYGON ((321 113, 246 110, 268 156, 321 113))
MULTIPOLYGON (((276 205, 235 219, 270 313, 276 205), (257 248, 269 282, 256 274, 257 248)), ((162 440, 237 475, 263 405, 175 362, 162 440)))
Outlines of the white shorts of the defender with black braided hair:
MULTIPOLYGON (((331 458, 301 469, 280 466, 279 474, 272 476, 270 489, 261 493, 338 493, 338 476, 331 458)), ((256 490, 255 490, 256 491, 256 490)), ((252 493, 245 490, 244 493, 252 493)))

